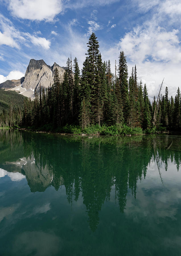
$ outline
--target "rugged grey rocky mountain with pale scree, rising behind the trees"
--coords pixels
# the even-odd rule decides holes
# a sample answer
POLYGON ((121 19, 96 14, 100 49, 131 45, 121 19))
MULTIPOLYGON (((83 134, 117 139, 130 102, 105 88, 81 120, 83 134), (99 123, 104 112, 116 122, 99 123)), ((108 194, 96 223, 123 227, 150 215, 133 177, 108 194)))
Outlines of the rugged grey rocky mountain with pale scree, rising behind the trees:
POLYGON ((60 81, 63 81, 63 74, 65 73, 65 67, 60 67, 54 62, 54 65, 49 66, 45 63, 43 59, 35 60, 30 59, 30 63, 26 69, 26 73, 23 78, 19 80, 7 80, 0 84, 0 88, 5 88, 7 90, 13 90, 19 92, 20 94, 34 98, 34 90, 39 91, 39 86, 45 89, 53 84, 54 70, 57 67, 59 71, 60 81), (16 81, 16 82, 15 82, 16 81))

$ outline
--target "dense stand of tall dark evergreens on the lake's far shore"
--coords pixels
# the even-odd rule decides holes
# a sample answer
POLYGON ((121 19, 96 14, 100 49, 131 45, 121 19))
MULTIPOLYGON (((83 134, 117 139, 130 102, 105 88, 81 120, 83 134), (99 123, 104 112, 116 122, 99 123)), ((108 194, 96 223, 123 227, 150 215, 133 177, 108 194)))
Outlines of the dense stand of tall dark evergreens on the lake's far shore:
POLYGON ((165 95, 150 102, 146 84, 137 79, 136 65, 128 78, 127 61, 121 51, 115 73, 110 60, 102 61, 94 33, 87 43, 88 50, 82 74, 77 58, 68 58, 63 82, 58 70, 54 84, 46 92, 41 85, 35 100, 24 101, 22 126, 73 133, 147 133, 156 130, 179 130, 181 127, 181 94, 165 95), (108 128, 109 127, 109 128, 108 128), (165 128, 164 128, 165 127, 165 128))

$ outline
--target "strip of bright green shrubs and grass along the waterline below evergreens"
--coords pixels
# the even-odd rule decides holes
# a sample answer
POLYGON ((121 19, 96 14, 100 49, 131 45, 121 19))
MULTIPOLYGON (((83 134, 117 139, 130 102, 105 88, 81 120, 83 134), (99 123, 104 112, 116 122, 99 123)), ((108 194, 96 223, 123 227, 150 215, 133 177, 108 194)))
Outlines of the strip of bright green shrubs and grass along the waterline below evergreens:
POLYGON ((75 135, 140 135, 140 134, 153 134, 157 132, 166 131, 165 127, 152 127, 145 131, 141 127, 128 127, 127 125, 112 125, 106 126, 102 125, 90 125, 84 129, 81 129, 77 125, 65 125, 63 127, 53 128, 52 125, 44 125, 42 127, 24 127, 33 131, 46 131, 46 132, 56 132, 56 133, 69 133, 75 135))

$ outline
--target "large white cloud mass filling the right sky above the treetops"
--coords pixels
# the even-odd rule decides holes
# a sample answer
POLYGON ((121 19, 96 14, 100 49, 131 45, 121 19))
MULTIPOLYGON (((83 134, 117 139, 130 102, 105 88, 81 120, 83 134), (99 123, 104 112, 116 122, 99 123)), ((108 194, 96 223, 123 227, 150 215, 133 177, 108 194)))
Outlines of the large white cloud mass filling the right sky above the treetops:
MULTIPOLYGON (((165 87, 168 86, 169 96, 175 96, 180 86, 181 44, 177 22, 181 11, 180 1, 133 2, 135 5, 138 4, 137 11, 150 10, 153 15, 143 24, 127 32, 120 38, 119 43, 110 48, 104 47, 102 56, 114 63, 123 50, 127 56, 129 72, 136 64, 138 79, 147 84, 151 98, 158 95, 163 78, 163 94, 165 87)), ((114 68, 112 70, 114 72, 114 68)))

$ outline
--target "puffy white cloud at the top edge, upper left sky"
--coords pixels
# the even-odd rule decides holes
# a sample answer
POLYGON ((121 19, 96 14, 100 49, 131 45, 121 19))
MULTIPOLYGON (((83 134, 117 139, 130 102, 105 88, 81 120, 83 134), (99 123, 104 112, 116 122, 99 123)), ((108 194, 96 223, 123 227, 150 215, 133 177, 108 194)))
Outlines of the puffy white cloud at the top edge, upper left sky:
POLYGON ((49 22, 63 11, 61 0, 9 0, 8 8, 17 18, 49 22))

